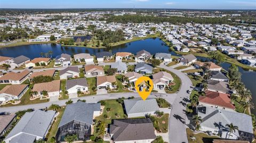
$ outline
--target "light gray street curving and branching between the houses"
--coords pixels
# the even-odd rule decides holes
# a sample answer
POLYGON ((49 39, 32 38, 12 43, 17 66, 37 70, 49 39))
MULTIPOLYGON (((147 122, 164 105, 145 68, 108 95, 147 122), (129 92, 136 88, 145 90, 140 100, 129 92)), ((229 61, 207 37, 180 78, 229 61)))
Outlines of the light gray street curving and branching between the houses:
MULTIPOLYGON (((186 99, 189 99, 189 94, 187 90, 192 87, 191 80, 187 77, 185 73, 182 73, 179 70, 170 68, 163 64, 158 66, 165 70, 175 73, 181 80, 181 88, 177 93, 174 94, 158 94, 151 93, 149 97, 162 97, 167 100, 172 105, 172 110, 169 117, 169 142, 170 143, 182 143, 188 142, 187 133, 186 133, 186 99)), ((100 100, 106 99, 117 99, 120 97, 131 97, 139 98, 140 96, 135 93, 117 93, 117 94, 105 94, 105 95, 93 95, 93 96, 84 96, 78 98, 72 98, 73 102, 77 102, 78 99, 85 99, 87 103, 97 103, 100 100)), ((0 107, 0 112, 10 112, 15 113, 17 111, 26 110, 28 108, 42 109, 49 107, 51 104, 58 104, 60 106, 66 105, 65 103, 69 99, 58 100, 54 102, 31 104, 31 105, 22 105, 22 106, 11 106, 11 107, 0 107)))

